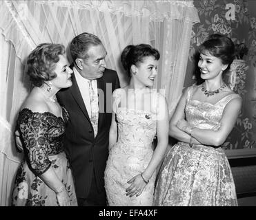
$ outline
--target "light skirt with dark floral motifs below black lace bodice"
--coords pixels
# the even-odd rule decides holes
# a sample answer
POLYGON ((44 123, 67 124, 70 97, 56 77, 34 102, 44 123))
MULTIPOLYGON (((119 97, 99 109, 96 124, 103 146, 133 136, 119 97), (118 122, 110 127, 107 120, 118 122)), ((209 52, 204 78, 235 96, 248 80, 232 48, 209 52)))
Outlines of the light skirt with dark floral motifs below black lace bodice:
MULTIPOLYGON (((71 206, 77 206, 74 182, 66 153, 51 155, 49 159, 56 175, 66 186, 71 206)), ((56 192, 32 173, 26 161, 21 163, 17 171, 12 191, 12 206, 59 206, 56 192)))

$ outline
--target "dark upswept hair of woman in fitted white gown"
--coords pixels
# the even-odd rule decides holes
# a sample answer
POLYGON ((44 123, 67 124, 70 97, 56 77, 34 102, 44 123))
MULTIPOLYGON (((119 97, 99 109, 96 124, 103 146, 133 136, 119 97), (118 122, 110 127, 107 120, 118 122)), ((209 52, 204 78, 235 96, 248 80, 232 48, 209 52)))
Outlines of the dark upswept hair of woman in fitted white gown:
POLYGON ((128 45, 121 53, 121 63, 130 76, 130 67, 142 63, 146 56, 153 56, 158 61, 159 51, 148 44, 128 45))

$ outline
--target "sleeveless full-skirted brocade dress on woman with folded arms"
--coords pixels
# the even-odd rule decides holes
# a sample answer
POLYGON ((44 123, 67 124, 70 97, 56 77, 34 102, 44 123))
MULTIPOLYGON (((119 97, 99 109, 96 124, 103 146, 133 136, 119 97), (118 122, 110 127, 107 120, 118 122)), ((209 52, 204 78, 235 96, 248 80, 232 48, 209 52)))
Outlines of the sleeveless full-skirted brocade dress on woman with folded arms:
MULTIPOLYGON (((226 104, 239 95, 225 96, 216 104, 191 100, 188 89, 186 120, 200 129, 212 129, 226 104)), ((155 206, 237 206, 235 184, 224 150, 178 142, 170 149, 159 172, 155 206)))

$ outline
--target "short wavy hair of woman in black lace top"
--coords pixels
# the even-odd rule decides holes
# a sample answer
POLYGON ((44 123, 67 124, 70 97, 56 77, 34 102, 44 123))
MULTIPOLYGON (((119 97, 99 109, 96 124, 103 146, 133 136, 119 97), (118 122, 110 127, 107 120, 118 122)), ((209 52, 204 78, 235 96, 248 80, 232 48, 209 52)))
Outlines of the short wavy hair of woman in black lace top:
POLYGON ((36 87, 41 87, 44 82, 52 80, 55 74, 56 63, 59 55, 65 54, 65 47, 55 43, 41 43, 28 55, 27 74, 36 87))

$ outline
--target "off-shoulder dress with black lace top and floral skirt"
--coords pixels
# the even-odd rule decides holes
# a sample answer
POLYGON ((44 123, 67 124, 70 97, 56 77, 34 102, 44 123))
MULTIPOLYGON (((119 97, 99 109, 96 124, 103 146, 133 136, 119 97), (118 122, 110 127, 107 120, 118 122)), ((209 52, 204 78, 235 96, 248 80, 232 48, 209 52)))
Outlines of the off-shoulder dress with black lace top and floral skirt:
POLYGON ((61 142, 68 122, 68 112, 62 108, 62 118, 50 112, 37 113, 22 109, 17 120, 24 159, 19 166, 12 192, 12 206, 59 206, 56 192, 39 175, 52 167, 77 206, 70 165, 61 142))

